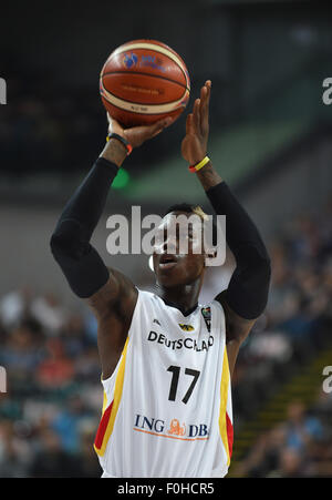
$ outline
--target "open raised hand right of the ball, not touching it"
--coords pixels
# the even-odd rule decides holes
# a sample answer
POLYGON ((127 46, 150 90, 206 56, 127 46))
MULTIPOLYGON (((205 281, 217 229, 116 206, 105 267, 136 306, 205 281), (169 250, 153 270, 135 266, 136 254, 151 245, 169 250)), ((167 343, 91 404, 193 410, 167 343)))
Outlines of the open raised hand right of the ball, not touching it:
POLYGON ((193 113, 187 116, 181 154, 189 165, 196 165, 207 154, 210 93, 211 81, 207 80, 200 89, 200 99, 196 99, 194 103, 193 113))

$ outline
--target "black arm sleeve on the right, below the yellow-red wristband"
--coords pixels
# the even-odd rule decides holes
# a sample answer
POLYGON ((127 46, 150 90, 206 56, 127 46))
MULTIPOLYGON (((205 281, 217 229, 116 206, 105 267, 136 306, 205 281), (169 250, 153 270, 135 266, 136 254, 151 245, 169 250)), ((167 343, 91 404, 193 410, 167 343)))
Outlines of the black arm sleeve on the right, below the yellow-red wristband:
POLYGON ((218 215, 226 215, 226 241, 236 259, 226 299, 246 319, 255 319, 266 308, 271 266, 260 234, 225 182, 210 187, 207 196, 218 215))

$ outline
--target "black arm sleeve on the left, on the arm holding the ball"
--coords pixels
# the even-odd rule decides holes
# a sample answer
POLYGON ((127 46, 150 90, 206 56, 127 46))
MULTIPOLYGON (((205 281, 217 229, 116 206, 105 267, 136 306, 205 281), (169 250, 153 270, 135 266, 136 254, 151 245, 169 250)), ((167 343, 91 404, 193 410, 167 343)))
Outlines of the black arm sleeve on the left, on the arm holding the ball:
POLYGON ((97 159, 65 205, 51 237, 52 254, 70 287, 81 298, 87 298, 97 292, 110 276, 90 239, 117 171, 115 164, 97 159))

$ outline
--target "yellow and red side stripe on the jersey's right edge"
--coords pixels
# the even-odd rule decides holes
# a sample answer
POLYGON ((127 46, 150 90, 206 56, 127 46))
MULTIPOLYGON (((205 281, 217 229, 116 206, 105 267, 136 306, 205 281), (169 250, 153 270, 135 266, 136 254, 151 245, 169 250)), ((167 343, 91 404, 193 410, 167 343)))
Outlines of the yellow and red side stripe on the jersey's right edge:
POLYGON ((232 422, 228 415, 228 395, 230 390, 229 366, 227 357, 227 348, 224 350, 222 375, 220 384, 220 412, 219 412, 219 430, 220 437, 227 453, 227 466, 230 463, 232 452, 234 429, 232 422))

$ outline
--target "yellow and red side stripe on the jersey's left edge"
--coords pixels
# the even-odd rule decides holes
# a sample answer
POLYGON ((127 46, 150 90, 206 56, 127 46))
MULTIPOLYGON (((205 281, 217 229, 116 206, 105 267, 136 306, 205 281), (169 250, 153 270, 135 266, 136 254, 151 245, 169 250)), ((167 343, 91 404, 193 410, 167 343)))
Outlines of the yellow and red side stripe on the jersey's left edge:
POLYGON ((94 449, 95 449, 96 453, 101 457, 104 455, 108 439, 112 436, 115 417, 116 417, 116 414, 118 410, 118 405, 120 405, 121 397, 122 397, 127 346, 128 346, 128 337, 126 339, 126 343, 125 343, 125 346, 123 349, 122 360, 121 360, 118 371, 116 375, 113 401, 108 406, 107 406, 106 392, 104 391, 102 418, 101 418, 100 426, 97 428, 96 437, 94 440, 94 449))

